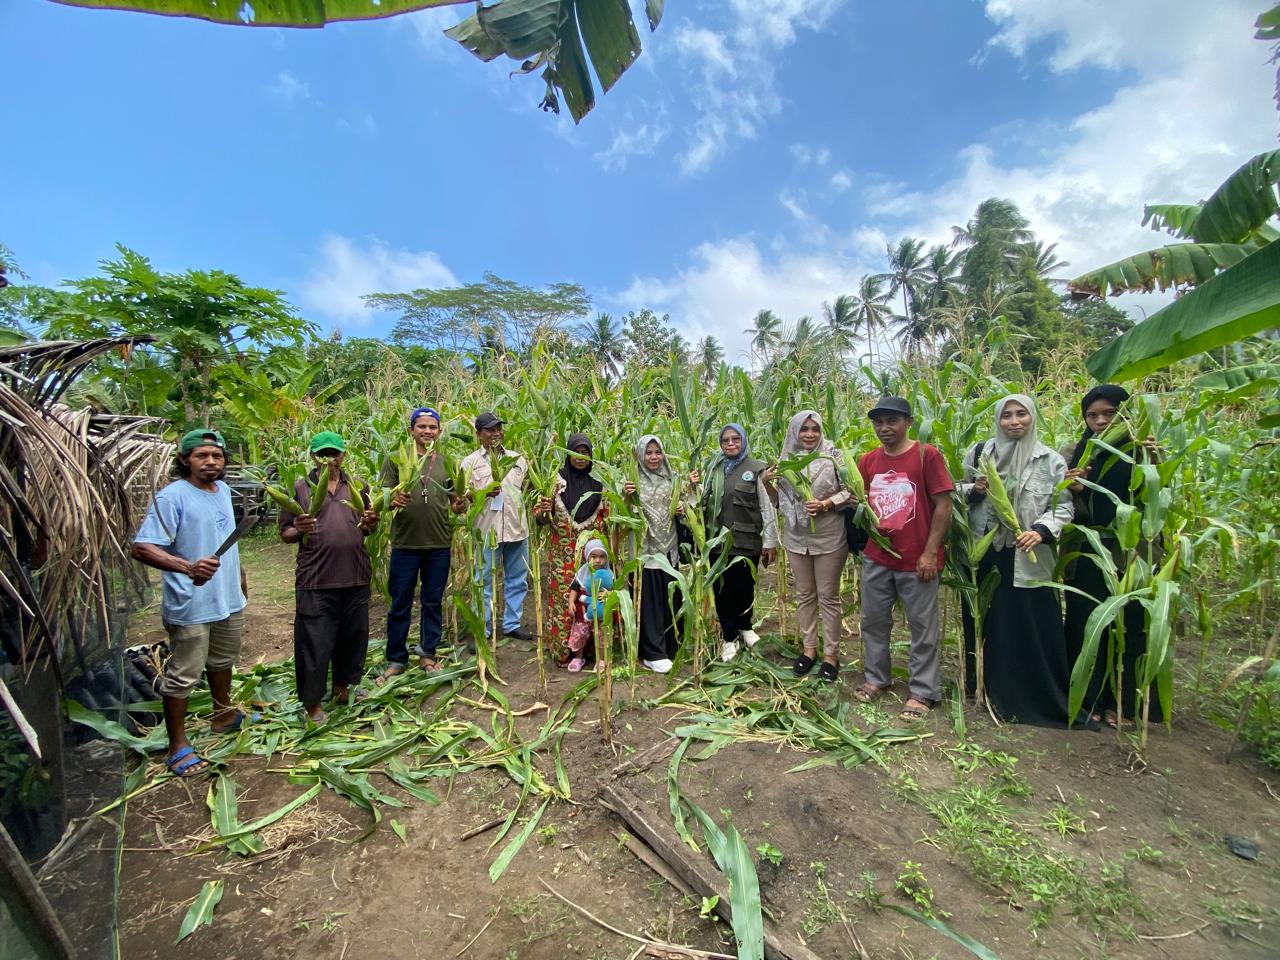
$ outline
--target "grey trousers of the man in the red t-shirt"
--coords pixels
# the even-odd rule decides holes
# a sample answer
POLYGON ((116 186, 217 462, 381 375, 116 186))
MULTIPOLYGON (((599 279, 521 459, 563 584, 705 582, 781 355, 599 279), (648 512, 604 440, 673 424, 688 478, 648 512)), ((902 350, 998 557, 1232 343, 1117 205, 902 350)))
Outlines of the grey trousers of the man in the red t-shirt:
POLYGON ((890 570, 863 557, 863 669, 868 684, 884 687, 892 682, 888 635, 893 627, 893 600, 901 599, 911 628, 908 690, 928 704, 942 699, 938 682, 941 582, 941 576, 924 582, 914 570, 890 570))

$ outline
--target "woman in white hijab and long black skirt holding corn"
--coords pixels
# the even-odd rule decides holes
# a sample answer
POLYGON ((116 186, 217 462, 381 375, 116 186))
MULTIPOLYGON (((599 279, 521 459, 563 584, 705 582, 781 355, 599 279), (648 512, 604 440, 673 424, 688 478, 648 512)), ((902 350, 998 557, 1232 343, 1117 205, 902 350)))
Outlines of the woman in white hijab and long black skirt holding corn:
MULTIPOLYGON (((1074 508, 1062 485, 1066 461, 1041 443, 1036 401, 1012 393, 996 403, 995 431, 965 458, 961 495, 969 500, 974 538, 995 530, 991 549, 978 566, 978 584, 1000 575, 983 620, 986 696, 1004 719, 1041 727, 1068 723, 1069 667, 1059 591, 1037 586, 1053 579, 1055 549, 1074 508), (991 457, 1009 492, 1018 530, 1002 522, 991 504, 983 461, 991 457)), ((974 625, 965 609, 965 655, 974 682, 974 625)), ((972 692, 972 691, 970 691, 972 692)))

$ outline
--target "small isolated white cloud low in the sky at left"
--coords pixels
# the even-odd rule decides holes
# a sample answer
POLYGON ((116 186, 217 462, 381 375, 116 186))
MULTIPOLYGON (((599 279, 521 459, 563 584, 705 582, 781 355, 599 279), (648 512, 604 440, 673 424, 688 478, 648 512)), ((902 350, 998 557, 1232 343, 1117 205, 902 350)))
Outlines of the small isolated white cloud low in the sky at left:
POLYGON ((379 316, 361 300, 424 287, 454 287, 457 278, 431 251, 398 250, 376 237, 364 243, 328 234, 319 261, 300 285, 301 306, 334 323, 365 326, 379 316))

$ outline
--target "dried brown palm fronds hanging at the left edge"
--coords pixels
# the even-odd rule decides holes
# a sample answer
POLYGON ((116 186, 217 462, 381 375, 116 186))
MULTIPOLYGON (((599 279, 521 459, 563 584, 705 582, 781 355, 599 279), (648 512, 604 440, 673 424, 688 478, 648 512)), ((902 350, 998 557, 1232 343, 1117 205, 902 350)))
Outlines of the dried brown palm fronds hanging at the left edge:
MULTIPOLYGON (((140 338, 0 347, 0 591, 28 614, 19 658, 110 626, 109 598, 140 588, 127 548, 172 444, 147 417, 70 410, 60 398, 95 358, 140 338)), ((145 342, 145 339, 142 340, 145 342)))

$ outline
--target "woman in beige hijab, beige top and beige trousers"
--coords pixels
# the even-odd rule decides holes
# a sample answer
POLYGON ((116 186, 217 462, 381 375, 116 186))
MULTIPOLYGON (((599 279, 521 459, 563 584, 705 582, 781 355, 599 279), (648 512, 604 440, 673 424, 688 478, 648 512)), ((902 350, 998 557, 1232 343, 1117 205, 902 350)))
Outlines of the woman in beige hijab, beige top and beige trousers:
POLYGON ((804 652, 792 672, 803 677, 818 658, 818 611, 822 611, 822 666, 818 676, 835 680, 840 671, 840 575, 849 558, 849 539, 841 509, 850 493, 840 479, 836 463, 840 451, 822 435, 822 415, 801 410, 787 425, 782 443, 783 460, 818 456, 804 467, 809 489, 801 493, 778 475, 778 513, 782 516, 781 540, 787 564, 795 579, 796 625, 804 652))

